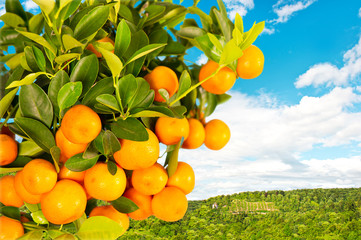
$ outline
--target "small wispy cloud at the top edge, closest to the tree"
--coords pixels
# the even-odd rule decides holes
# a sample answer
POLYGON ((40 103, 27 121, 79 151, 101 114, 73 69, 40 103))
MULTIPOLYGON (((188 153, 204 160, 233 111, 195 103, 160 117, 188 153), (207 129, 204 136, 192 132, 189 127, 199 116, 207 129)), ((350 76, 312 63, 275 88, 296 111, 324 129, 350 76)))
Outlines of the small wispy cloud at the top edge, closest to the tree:
POLYGON ((308 8, 315 1, 316 0, 302 0, 294 2, 279 0, 273 5, 273 11, 277 14, 277 19, 272 20, 272 22, 285 23, 294 13, 308 8))

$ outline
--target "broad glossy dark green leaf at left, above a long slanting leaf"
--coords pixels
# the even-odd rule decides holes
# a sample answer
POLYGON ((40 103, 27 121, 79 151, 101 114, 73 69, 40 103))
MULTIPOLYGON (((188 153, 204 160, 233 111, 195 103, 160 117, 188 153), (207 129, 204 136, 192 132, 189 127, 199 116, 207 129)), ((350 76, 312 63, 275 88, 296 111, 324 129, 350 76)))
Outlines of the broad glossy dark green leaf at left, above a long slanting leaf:
POLYGON ((39 120, 48 128, 53 122, 53 105, 44 90, 35 83, 21 87, 19 109, 23 117, 39 120))

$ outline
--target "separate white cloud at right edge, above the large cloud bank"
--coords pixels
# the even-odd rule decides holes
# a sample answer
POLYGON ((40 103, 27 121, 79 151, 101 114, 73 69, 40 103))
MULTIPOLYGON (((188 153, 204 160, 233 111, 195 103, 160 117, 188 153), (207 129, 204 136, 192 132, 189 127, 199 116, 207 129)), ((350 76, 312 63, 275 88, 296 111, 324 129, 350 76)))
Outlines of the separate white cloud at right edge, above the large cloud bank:
POLYGON ((344 86, 355 80, 361 74, 361 37, 359 42, 343 55, 343 61, 341 68, 331 63, 319 63, 310 67, 298 77, 295 86, 344 86))

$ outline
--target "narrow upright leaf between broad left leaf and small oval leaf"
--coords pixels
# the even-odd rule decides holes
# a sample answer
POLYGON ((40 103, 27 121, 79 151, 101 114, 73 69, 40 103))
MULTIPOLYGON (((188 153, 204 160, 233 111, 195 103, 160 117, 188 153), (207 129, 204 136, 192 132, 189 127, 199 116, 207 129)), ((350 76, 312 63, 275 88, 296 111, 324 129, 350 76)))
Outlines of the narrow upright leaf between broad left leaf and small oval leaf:
POLYGON ((55 77, 53 77, 53 79, 50 81, 48 96, 54 106, 54 112, 57 116, 59 116, 58 93, 60 89, 69 81, 68 74, 63 70, 57 72, 55 77))

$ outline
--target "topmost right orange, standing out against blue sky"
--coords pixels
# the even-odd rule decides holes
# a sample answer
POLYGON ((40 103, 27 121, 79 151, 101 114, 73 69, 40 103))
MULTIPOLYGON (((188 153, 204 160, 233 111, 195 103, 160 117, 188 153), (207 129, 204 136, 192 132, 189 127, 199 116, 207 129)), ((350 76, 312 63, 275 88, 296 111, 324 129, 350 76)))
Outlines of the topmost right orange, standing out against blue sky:
POLYGON ((242 57, 237 62, 237 74, 243 79, 258 77, 263 71, 264 55, 262 51, 254 46, 249 46, 243 51, 242 57))

